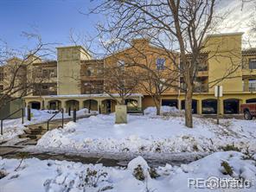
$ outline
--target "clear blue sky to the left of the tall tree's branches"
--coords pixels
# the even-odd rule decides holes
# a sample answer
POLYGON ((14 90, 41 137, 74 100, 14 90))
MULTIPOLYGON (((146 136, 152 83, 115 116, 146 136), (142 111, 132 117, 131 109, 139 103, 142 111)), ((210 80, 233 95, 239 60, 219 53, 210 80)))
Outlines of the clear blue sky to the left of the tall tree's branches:
POLYGON ((70 30, 95 34, 99 15, 85 16, 94 7, 90 0, 0 0, 0 39, 12 48, 29 44, 22 31, 37 33, 43 42, 71 44, 70 30))

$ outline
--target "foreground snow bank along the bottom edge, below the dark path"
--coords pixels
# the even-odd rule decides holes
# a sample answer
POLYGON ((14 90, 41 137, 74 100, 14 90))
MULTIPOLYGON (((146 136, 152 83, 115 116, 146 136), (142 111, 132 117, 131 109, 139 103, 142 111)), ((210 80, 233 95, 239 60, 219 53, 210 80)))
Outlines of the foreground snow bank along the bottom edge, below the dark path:
POLYGON ((256 190, 256 167, 253 157, 240 152, 216 152, 198 161, 181 166, 166 164, 150 169, 142 157, 127 168, 104 167, 102 164, 82 164, 35 158, 2 159, 0 189, 9 191, 250 191, 256 190), (225 169, 226 168, 226 169, 225 169), (230 168, 230 169, 228 169, 230 168), (196 186, 195 182, 199 183, 196 186), (214 185, 220 180, 221 189, 214 185), (226 180, 225 180, 226 179, 226 180), (236 181, 242 181, 239 186, 236 181), (216 187, 216 189, 209 189, 216 187), (196 187, 200 189, 196 189, 196 187), (234 189, 240 187, 241 189, 234 189))

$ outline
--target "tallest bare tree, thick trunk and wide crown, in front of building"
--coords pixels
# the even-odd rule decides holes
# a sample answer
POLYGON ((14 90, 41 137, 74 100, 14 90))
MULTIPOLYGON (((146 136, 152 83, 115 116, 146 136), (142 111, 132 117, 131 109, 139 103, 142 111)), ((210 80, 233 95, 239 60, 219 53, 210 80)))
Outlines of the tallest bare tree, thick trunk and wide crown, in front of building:
MULTIPOLYGON (((112 44, 125 48, 129 40, 138 37, 149 38, 153 45, 165 50, 163 55, 173 64, 168 70, 175 75, 169 83, 161 83, 184 91, 185 125, 193 127, 192 96, 201 54, 206 48, 204 39, 220 21, 214 16, 215 7, 215 0, 109 0, 99 3, 91 13, 107 17, 98 30, 105 37, 102 42, 108 43, 108 50, 112 44), (176 51, 180 60, 176 60, 176 51), (182 86, 173 83, 177 77, 182 78, 182 86)), ((221 80, 230 77, 237 68, 232 67, 221 80)))

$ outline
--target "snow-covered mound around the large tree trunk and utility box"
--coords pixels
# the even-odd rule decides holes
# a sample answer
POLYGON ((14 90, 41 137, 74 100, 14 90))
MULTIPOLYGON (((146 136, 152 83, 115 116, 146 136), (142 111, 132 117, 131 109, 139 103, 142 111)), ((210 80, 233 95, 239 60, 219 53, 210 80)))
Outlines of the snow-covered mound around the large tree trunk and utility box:
POLYGON ((183 117, 128 116, 128 124, 115 125, 114 114, 82 118, 64 129, 48 131, 35 148, 78 153, 156 154, 207 152, 233 145, 256 151, 256 122, 194 118, 194 128, 184 125, 183 117))

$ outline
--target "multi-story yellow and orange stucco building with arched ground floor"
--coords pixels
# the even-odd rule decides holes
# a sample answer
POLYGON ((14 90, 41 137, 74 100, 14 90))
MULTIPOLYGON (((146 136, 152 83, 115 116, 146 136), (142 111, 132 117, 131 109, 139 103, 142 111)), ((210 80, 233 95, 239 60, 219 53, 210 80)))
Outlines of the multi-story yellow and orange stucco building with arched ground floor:
MULTIPOLYGON (((233 33, 208 35, 205 39, 205 51, 201 54, 195 80, 193 112, 217 112, 217 99, 214 97, 216 85, 223 86, 221 114, 239 113, 240 104, 256 102, 256 49, 242 50, 241 37, 242 33, 233 33)), ((173 83, 183 85, 182 76, 176 78, 176 74, 165 72, 165 68, 174 66, 174 60, 179 61, 178 53, 172 53, 177 56, 172 61, 166 50, 152 46, 148 40, 135 40, 131 48, 100 60, 92 59, 80 46, 57 48, 57 52, 57 61, 35 60, 32 67, 28 67, 26 78, 35 80, 36 91, 24 97, 26 105, 37 109, 81 109, 90 106, 92 110, 113 112, 116 100, 112 97, 120 97, 118 93, 112 94, 112 97, 105 93, 104 69, 108 65, 120 67, 135 60, 153 70, 163 71, 167 76, 173 75, 177 79, 173 83)), ((182 67, 182 62, 179 65, 182 67)), ((1 75, 0 68, 0 88, 3 88, 1 75)), ((154 106, 150 95, 139 87, 129 97, 131 101, 142 108, 154 106)), ((180 89, 170 88, 162 94, 162 106, 183 109, 184 103, 184 93, 180 89)))

